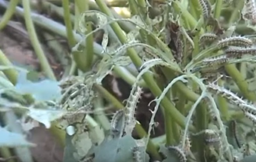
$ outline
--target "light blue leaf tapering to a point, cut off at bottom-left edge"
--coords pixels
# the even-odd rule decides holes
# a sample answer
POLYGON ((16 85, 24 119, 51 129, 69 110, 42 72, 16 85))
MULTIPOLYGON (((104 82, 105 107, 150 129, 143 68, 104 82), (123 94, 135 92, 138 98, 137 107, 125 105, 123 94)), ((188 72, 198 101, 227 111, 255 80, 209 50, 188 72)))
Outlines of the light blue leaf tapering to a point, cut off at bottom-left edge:
POLYGON ((13 133, 6 128, 0 127, 0 147, 9 147, 9 148, 14 148, 14 147, 32 147, 35 146, 34 144, 27 142, 25 137, 19 133, 13 133))

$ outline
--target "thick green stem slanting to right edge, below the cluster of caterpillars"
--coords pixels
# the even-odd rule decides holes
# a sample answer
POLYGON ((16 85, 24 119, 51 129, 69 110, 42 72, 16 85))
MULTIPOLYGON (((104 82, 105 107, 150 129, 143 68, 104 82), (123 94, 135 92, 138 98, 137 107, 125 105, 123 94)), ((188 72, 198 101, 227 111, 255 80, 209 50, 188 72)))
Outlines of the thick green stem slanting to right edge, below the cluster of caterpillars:
POLYGON ((254 92, 250 92, 248 89, 248 83, 244 78, 241 76, 241 73, 238 69, 236 69, 235 64, 229 64, 225 66, 226 72, 233 78, 236 82, 237 86, 241 90, 241 93, 250 101, 256 101, 256 95, 254 92))

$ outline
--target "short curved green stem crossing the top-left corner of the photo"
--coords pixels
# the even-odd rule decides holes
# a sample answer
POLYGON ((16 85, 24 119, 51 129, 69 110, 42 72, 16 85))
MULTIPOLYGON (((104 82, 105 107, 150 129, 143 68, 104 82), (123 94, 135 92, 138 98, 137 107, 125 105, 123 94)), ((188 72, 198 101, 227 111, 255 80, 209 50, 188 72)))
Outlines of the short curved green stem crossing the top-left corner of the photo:
POLYGON ((11 0, 11 2, 9 3, 6 12, 3 14, 3 17, 1 17, 0 30, 2 30, 12 18, 12 15, 15 13, 15 8, 19 1, 20 0, 11 0))

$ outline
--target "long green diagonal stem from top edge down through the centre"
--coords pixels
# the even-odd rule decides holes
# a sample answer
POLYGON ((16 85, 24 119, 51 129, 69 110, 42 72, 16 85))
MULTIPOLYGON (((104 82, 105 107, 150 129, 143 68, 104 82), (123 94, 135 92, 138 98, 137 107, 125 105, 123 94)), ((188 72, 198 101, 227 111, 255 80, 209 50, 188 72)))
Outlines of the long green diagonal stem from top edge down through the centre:
MULTIPOLYGON (((111 12, 109 11, 108 7, 102 0, 95 0, 98 4, 99 8, 110 17, 113 17, 111 12)), ((118 25, 118 23, 111 23, 110 24, 114 32, 116 33, 117 37, 119 38, 122 44, 127 43, 126 37, 122 32, 122 29, 118 25)), ((131 58, 131 61, 134 65, 139 68, 142 65, 142 60, 137 55, 136 51, 133 48, 127 49, 128 56, 131 58)), ((154 96, 159 96, 162 91, 157 86, 154 78, 150 75, 150 73, 146 72, 143 75, 144 81, 148 84, 149 89, 154 94, 154 96)), ((168 98, 164 97, 161 101, 161 105, 164 109, 168 110, 168 113, 171 114, 172 118, 177 122, 181 127, 185 127, 185 117, 175 108, 175 106, 168 100, 168 98)), ((195 128, 191 125, 190 130, 195 131, 195 128)))

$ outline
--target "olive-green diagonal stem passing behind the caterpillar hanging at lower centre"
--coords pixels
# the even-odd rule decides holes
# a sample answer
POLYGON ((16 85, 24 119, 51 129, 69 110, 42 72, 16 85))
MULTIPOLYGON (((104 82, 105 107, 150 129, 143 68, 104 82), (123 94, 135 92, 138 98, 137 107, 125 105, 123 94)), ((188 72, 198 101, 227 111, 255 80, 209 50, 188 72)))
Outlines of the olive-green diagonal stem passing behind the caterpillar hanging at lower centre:
MULTIPOLYGON (((94 84, 94 87, 96 88, 96 90, 98 90, 99 94, 101 94, 102 97, 104 97, 106 100, 111 102, 116 109, 125 108, 124 105, 120 103, 113 95, 111 95, 104 87, 97 84, 94 84)), ((147 136, 147 133, 145 132, 145 130, 140 124, 136 123, 135 129, 138 135, 140 136, 140 138, 144 138, 145 136, 147 136)), ((152 156, 154 156, 158 160, 161 159, 157 148, 154 146, 153 142, 150 139, 148 141, 147 150, 149 153, 151 153, 152 156)))

